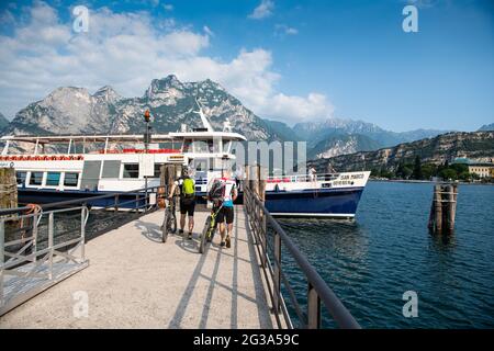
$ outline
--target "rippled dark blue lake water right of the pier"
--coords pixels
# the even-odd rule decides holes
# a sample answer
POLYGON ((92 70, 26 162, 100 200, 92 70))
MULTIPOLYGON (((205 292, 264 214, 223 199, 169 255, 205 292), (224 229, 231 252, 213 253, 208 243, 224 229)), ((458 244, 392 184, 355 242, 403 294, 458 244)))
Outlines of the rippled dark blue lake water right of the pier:
MULTIPOLYGON (((427 229, 433 186, 369 182, 355 223, 280 220, 363 328, 494 328, 494 186, 459 185, 448 238, 427 229), (416 318, 403 316, 406 291, 416 318)), ((305 280, 283 265, 303 301, 305 280)))

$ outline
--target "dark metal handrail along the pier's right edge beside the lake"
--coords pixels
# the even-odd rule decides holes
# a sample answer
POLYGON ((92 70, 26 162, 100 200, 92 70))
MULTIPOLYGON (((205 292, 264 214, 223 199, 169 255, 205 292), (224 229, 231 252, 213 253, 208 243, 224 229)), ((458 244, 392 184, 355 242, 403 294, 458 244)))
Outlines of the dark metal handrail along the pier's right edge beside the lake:
MULTIPOLYGON (((281 281, 287 285, 289 282, 283 276, 281 268, 281 244, 293 257, 301 272, 307 280, 307 314, 305 326, 307 328, 321 328, 321 302, 325 305, 326 309, 333 316, 334 320, 341 328, 356 329, 360 328, 353 316, 348 312, 344 304, 339 301, 336 294, 329 288, 326 282, 321 278, 314 267, 308 262, 307 258, 293 244, 292 239, 281 228, 279 223, 271 216, 269 211, 265 207, 263 203, 259 200, 259 196, 248 186, 244 186, 244 204, 246 205, 247 213, 250 219, 251 227, 256 235, 256 239, 261 244, 261 249, 258 249, 261 254, 262 267, 266 270, 266 263, 269 263, 269 272, 273 281, 272 291, 270 288, 271 302, 274 305, 276 312, 284 310, 284 303, 281 295, 281 281), (269 224, 274 230, 274 247, 267 245, 267 230, 266 225, 269 224), (274 267, 271 267, 268 249, 272 249, 274 257, 274 267)), ((291 290, 291 286, 288 286, 291 290)), ((293 297, 293 296, 290 296, 293 297)), ((292 303, 295 304, 295 309, 301 309, 296 299, 292 298, 292 303)), ((278 317, 277 317, 278 318, 278 317)), ((287 318, 287 316, 285 316, 287 318)), ((288 322, 290 326, 290 322, 288 322)))

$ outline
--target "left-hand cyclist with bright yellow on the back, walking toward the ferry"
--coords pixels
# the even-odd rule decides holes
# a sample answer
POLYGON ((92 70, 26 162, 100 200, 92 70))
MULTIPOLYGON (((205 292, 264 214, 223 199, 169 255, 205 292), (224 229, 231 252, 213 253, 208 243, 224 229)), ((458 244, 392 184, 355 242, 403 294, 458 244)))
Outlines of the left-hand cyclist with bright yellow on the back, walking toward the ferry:
POLYGON ((183 234, 186 226, 186 215, 189 216, 189 235, 192 239, 192 230, 194 229, 194 208, 195 208, 195 182, 189 177, 189 169, 182 168, 182 176, 173 183, 170 191, 170 197, 175 194, 177 186, 180 189, 180 234, 183 234))

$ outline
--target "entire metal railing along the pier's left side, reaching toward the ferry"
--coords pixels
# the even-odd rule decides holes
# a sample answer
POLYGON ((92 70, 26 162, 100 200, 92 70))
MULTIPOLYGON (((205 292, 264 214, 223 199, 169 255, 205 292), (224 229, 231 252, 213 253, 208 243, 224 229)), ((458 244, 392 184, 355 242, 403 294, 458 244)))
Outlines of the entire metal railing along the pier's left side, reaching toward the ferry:
POLYGON ((160 188, 165 191, 164 186, 151 186, 43 206, 0 210, 0 315, 67 276, 67 270, 74 273, 87 267, 88 237, 94 238, 156 211, 160 188), (121 212, 123 208, 127 212, 121 212), (88 224, 90 214, 96 219, 88 224), (57 215, 60 216, 56 218, 57 215), (80 227, 76 218, 80 218, 80 227), (80 254, 76 257, 78 249, 80 254), (64 270, 60 262, 79 267, 64 270), (54 263, 58 264, 56 270, 54 263), (15 286, 12 276, 16 276, 15 286))

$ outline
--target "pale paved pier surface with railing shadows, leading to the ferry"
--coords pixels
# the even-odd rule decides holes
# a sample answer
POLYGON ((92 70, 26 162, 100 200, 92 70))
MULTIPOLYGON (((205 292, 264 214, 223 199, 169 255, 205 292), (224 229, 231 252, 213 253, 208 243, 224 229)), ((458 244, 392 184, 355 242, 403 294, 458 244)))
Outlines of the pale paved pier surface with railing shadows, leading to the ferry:
MULTIPOLYGON (((205 216, 197 213, 195 231, 205 216)), ((160 242, 161 218, 155 212, 89 241, 89 268, 0 317, 0 328, 273 327, 242 206, 232 248, 216 236, 207 254, 198 253, 198 234, 160 242)))

